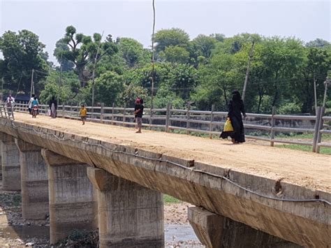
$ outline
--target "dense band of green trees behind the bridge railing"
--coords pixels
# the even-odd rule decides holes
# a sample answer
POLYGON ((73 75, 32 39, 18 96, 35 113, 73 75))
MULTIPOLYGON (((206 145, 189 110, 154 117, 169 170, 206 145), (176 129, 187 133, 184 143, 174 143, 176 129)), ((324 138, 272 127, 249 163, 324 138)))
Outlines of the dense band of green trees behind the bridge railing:
MULTIPOLYGON (((331 69, 331 45, 317 38, 304 44, 297 38, 238 34, 198 35, 192 40, 182 29, 155 34, 154 75, 152 51, 133 38, 112 39, 78 33, 73 26, 56 42, 54 56, 61 66, 47 61, 45 45, 31 31, 7 31, 0 37, 0 78, 11 92, 29 93, 31 70, 41 101, 59 96, 60 104, 91 104, 95 68, 95 103, 132 106, 137 96, 150 108, 172 103, 184 108, 227 110, 230 93, 243 88, 249 53, 253 55, 245 105, 249 112, 314 113, 314 80, 318 105, 323 82, 331 69), (154 77, 154 92, 152 92, 154 77)), ((330 74, 329 74, 330 77, 330 74)), ((331 90, 328 92, 330 99, 331 90)), ((328 101, 330 104, 330 101, 328 101)))

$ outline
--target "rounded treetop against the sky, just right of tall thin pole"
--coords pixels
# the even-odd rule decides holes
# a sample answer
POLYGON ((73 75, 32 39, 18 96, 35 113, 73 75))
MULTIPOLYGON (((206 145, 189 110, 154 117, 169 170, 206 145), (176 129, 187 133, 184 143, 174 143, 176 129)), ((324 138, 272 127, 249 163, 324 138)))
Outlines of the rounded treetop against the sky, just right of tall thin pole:
POLYGON ((175 45, 186 48, 189 40, 189 34, 182 29, 161 29, 154 36, 154 42, 156 43, 155 50, 159 53, 164 51, 165 48, 175 45))

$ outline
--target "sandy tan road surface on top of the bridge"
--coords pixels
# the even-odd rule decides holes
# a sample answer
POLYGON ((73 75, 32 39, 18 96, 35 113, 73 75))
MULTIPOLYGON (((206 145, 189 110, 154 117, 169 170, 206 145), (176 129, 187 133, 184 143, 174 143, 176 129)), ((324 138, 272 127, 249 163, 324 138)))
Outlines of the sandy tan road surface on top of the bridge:
POLYGON ((278 147, 244 143, 232 145, 227 140, 210 140, 175 133, 113 126, 72 119, 51 119, 15 113, 15 122, 25 122, 66 133, 87 136, 153 152, 194 159, 223 168, 260 175, 275 180, 331 192, 331 156, 278 147))

